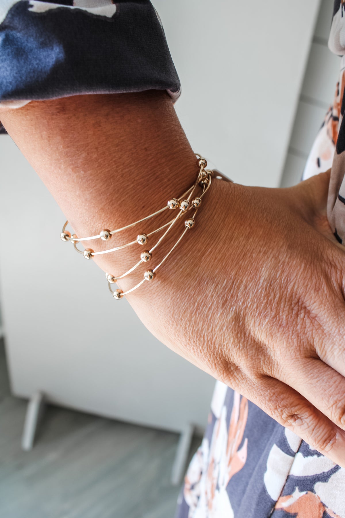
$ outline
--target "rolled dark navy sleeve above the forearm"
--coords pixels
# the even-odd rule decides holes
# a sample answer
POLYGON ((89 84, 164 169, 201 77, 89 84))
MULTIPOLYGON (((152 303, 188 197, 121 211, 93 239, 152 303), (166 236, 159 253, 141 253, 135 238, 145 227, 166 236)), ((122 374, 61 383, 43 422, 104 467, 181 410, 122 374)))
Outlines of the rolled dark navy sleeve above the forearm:
POLYGON ((1 0, 2 106, 78 94, 181 93, 149 0, 1 0))

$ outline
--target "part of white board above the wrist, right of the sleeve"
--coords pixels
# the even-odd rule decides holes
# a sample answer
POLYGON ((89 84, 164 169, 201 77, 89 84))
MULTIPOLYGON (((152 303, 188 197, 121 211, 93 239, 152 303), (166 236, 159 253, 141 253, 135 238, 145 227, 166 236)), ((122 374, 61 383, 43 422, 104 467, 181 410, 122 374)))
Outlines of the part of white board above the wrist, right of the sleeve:
POLYGON ((236 182, 278 186, 319 0, 153 3, 193 149, 236 182))

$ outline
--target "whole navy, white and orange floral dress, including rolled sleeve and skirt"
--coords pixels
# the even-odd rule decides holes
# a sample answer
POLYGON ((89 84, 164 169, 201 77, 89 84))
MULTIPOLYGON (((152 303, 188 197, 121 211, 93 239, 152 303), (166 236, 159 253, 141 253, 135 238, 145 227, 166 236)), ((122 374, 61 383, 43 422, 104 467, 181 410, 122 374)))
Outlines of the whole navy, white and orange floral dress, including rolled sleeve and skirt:
MULTIPOLYGON (((345 0, 335 0, 329 48, 345 55, 345 0)), ((331 16, 331 13, 330 13, 331 16)), ((332 167, 327 215, 345 239, 345 57, 333 105, 304 177, 332 167)), ((148 0, 0 0, 1 107, 76 94, 181 85, 148 0)), ((4 131, 1 128, 0 132, 4 131)), ((217 382, 176 518, 345 518, 345 469, 217 382)))

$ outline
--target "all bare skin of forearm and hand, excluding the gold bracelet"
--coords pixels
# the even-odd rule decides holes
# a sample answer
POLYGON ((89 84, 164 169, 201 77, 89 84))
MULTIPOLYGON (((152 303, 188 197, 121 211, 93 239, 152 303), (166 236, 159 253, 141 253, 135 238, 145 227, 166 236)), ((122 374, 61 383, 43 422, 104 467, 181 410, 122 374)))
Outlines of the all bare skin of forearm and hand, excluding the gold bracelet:
MULTIPOLYGON (((45 100, 1 119, 79 236, 159 209, 198 172, 165 92, 45 100)), ((328 182, 329 172, 290 189, 214 180, 196 225, 127 298, 164 344, 345 467, 345 255, 326 219, 328 182)), ((181 232, 180 222, 150 267, 181 232)), ((98 241, 85 248, 116 246, 98 241)), ((94 261, 118 275, 141 251, 94 261)), ((119 287, 136 284, 143 268, 119 287)))

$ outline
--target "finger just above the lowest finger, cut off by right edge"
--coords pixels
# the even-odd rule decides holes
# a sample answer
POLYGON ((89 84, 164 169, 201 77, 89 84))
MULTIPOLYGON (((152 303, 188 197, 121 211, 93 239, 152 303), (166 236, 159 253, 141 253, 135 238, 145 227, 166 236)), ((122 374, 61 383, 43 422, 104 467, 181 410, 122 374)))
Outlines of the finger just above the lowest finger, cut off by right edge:
POLYGON ((320 358, 305 358, 284 366, 280 381, 304 396, 339 428, 345 429, 345 378, 320 358))

